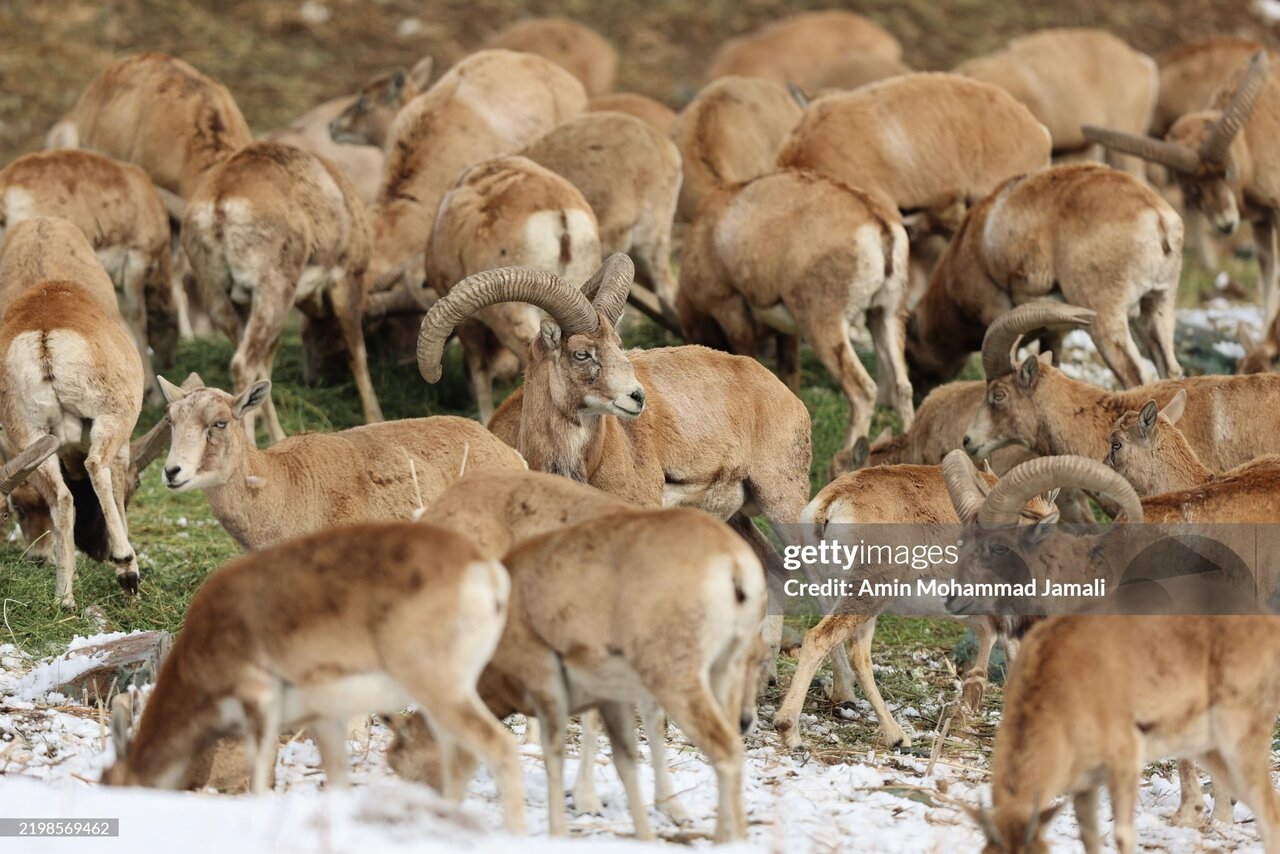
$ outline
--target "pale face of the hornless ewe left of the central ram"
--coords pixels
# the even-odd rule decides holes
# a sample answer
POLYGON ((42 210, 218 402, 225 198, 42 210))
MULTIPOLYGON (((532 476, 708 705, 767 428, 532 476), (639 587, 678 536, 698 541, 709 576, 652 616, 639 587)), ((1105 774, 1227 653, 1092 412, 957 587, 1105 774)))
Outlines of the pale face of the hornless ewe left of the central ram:
POLYGON ((169 403, 173 423, 164 484, 174 492, 225 484, 241 453, 243 430, 233 398, 215 388, 189 392, 169 403))

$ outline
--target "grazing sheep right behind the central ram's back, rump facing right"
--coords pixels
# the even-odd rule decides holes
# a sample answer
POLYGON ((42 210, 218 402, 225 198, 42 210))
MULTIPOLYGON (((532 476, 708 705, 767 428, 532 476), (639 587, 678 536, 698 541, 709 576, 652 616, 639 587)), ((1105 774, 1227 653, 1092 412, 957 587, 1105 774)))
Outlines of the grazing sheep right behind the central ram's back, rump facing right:
MULTIPOLYGON (((753 356, 759 330, 778 334, 780 362, 804 337, 849 398, 842 448, 865 435, 881 399, 911 426, 902 356, 906 232, 897 210, 813 172, 785 169, 703 204, 685 239, 678 306, 685 337, 753 356), (865 323, 872 380, 849 343, 865 323), (786 337, 788 342, 782 341, 786 337)), ((783 379, 799 391, 799 357, 783 379)))

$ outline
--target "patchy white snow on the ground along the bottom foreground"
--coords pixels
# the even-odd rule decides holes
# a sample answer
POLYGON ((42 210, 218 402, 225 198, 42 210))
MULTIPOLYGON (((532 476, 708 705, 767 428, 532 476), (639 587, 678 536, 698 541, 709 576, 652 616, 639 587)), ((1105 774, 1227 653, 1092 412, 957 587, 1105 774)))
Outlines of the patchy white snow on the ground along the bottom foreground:
MULTIPOLYGON (((81 648, 110 636, 79 640, 81 648)), ((941 666, 941 662, 936 662, 941 666)), ((545 777, 538 748, 521 748, 531 835, 500 830, 500 807, 492 778, 480 772, 461 808, 442 803, 429 789, 394 777, 384 761, 389 734, 372 727, 367 744, 351 743, 353 789, 328 791, 319 754, 305 737, 280 752, 276 790, 264 798, 172 794, 99 786, 113 761, 110 739, 95 709, 67 703, 52 688, 87 667, 74 652, 32 662, 0 647, 0 817, 119 818, 116 840, 84 842, 8 841, 0 850, 84 851, 634 851, 669 842, 709 845, 714 826, 716 780, 710 767, 673 730, 675 780, 694 817, 676 827, 652 812, 663 842, 630 839, 631 821, 622 789, 605 759, 595 780, 605 803, 602 816, 571 816, 568 840, 547 837, 545 777)), ((772 717, 764 708, 763 720, 772 717)), ((859 712, 860 713, 860 712, 859 712)), ((909 712, 900 718, 910 721, 909 712)), ((805 737, 829 746, 831 729, 803 718, 805 737)), ((521 729, 517 726, 517 730, 521 729)), ((936 734, 919 732, 929 744, 936 734)), ((955 740, 955 735, 951 736, 955 740)), ((749 739, 746 807, 750 841, 740 850, 767 851, 952 851, 978 850, 979 835, 955 805, 986 803, 986 754, 978 745, 965 762, 943 761, 925 776, 927 761, 884 753, 874 745, 849 745, 847 762, 823 764, 776 748, 765 730, 749 739)), ((571 761, 570 778, 576 773, 571 761)), ((643 782, 650 789, 648 771, 643 782)), ((1236 808, 1231 828, 1179 828, 1167 817, 1176 807, 1176 782, 1161 776, 1142 790, 1138 832, 1144 850, 1257 850, 1248 810, 1236 808)), ((1107 808, 1103 807, 1103 816, 1107 808)), ((1070 810, 1051 831, 1055 848, 1078 845, 1070 810)))

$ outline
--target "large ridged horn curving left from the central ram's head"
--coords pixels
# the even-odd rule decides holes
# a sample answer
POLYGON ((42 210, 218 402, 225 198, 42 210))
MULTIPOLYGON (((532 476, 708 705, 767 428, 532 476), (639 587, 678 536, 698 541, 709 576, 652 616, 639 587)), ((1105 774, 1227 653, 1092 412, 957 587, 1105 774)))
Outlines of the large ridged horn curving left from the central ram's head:
POLYGON ((422 318, 417 334, 417 369, 422 379, 440 379, 440 356, 453 328, 485 306, 498 302, 535 305, 561 325, 567 334, 591 332, 599 315, 582 292, 554 273, 527 266, 504 266, 468 275, 453 286, 422 318))

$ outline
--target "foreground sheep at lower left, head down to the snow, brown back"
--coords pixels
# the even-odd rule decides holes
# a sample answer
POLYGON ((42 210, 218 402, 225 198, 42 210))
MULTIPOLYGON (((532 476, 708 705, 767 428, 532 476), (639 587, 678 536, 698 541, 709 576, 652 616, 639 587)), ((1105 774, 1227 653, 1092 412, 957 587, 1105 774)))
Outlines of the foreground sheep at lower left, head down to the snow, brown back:
MULTIPOLYGON (((465 536, 379 522, 321 530, 214 572, 187 609, 142 721, 111 709, 115 763, 102 782, 184 789, 219 737, 244 740, 265 794, 284 727, 306 726, 332 789, 349 785, 346 723, 417 705, 443 737, 484 758, 508 831, 525 828, 515 737, 476 680, 507 618, 511 577, 465 536)), ((466 780, 445 769, 443 793, 466 780)))

